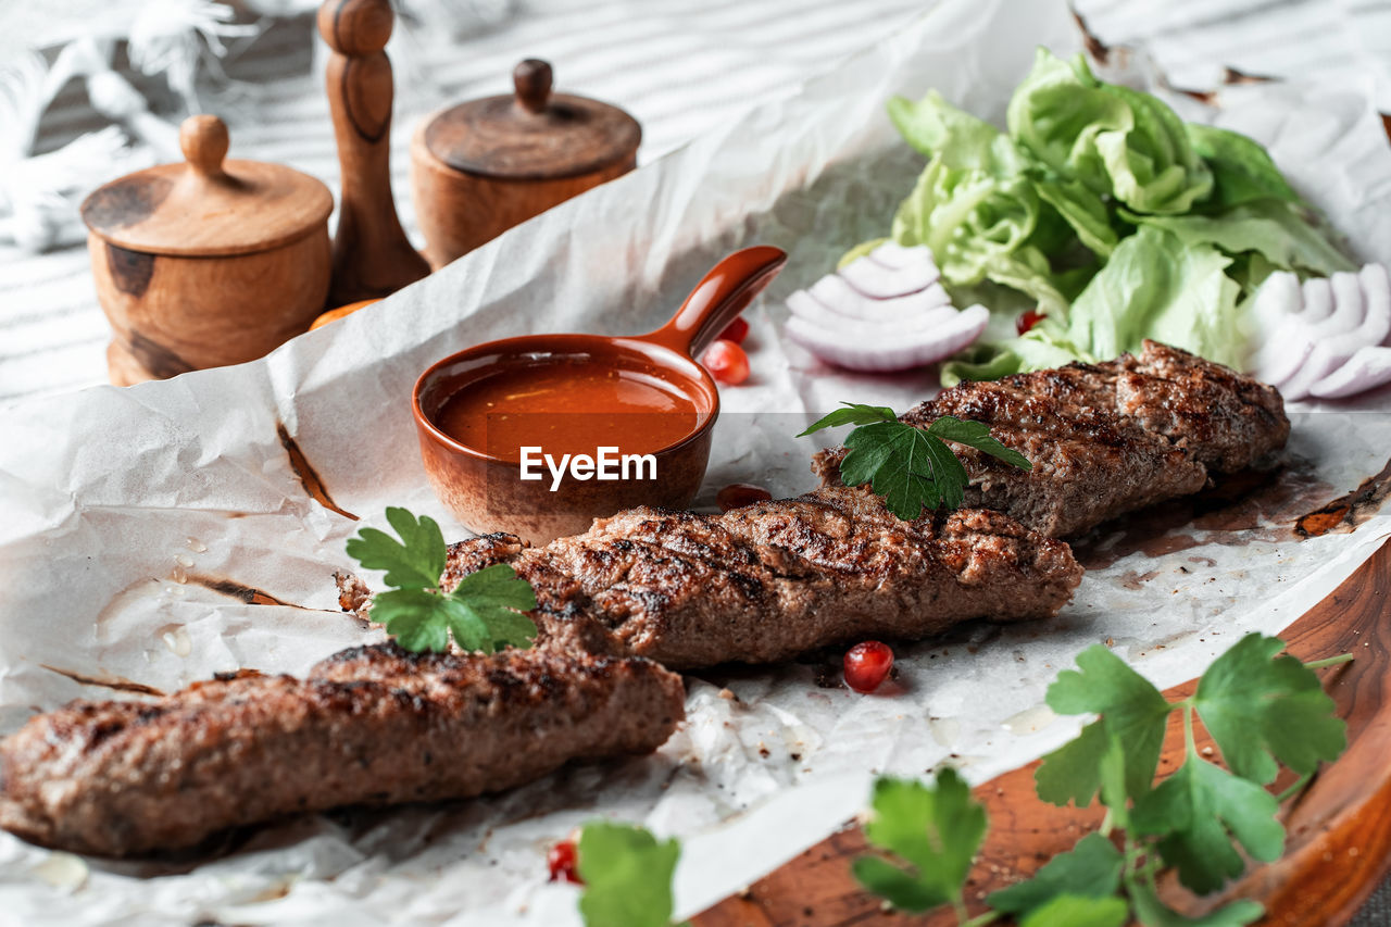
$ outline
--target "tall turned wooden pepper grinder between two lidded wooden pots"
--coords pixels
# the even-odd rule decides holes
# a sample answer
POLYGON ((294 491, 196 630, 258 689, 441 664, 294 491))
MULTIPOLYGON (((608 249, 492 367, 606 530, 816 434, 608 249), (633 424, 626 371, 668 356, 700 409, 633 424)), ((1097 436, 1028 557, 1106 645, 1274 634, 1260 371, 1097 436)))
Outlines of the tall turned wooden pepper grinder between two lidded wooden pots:
POLYGON ((328 107, 342 193, 328 305, 385 296, 430 273, 410 246, 391 196, 389 0, 324 0, 319 33, 332 49, 328 107))

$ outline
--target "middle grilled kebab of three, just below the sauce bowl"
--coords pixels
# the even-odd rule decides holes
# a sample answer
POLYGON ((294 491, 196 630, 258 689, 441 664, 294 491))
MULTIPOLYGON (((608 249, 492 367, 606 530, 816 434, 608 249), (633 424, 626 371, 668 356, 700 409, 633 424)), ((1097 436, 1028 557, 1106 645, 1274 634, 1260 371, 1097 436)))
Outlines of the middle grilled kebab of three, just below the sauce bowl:
POLYGON ((488 534, 449 548, 441 585, 497 562, 536 589, 540 646, 673 670, 1046 618, 1082 576, 1066 544, 999 512, 903 522, 847 487, 723 515, 634 508, 537 548, 488 534))

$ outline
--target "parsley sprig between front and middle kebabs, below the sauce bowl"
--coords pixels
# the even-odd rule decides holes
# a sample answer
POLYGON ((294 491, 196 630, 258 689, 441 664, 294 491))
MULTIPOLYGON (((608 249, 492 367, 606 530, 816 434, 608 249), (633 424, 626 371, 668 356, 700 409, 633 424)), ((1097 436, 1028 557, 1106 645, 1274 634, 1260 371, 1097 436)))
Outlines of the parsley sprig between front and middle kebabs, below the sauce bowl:
POLYGON ((447 650, 449 636, 465 650, 492 653, 530 647, 536 624, 523 612, 536 608, 536 592, 506 564, 465 576, 453 592, 440 590, 448 548, 440 525, 403 508, 388 508, 387 522, 401 537, 363 528, 348 539, 348 555, 369 569, 387 571, 395 589, 377 593, 371 617, 406 650, 447 650))

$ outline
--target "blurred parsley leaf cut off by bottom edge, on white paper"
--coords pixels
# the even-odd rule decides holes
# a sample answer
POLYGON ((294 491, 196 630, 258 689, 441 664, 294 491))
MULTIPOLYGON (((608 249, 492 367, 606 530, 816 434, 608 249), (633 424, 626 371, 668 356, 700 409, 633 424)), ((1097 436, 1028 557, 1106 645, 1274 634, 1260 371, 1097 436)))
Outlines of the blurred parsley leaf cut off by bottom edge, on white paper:
POLYGON ((675 839, 658 842, 633 824, 586 824, 576 860, 584 881, 580 913, 586 927, 668 927, 680 853, 675 839))

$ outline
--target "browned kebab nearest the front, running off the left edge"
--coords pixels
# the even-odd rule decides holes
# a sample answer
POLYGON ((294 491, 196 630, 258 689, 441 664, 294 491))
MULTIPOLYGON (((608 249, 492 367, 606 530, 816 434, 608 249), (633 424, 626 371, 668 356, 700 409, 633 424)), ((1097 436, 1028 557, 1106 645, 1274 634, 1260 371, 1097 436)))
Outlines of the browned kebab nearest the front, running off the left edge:
POLYGON ((459 799, 572 759, 648 753, 680 676, 554 650, 344 650, 307 678, 241 672, 156 702, 77 702, 0 743, 0 827, 102 856, 348 805, 459 799))

